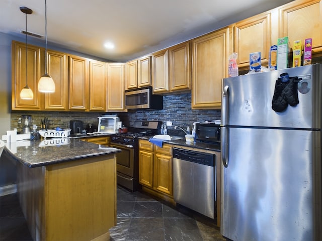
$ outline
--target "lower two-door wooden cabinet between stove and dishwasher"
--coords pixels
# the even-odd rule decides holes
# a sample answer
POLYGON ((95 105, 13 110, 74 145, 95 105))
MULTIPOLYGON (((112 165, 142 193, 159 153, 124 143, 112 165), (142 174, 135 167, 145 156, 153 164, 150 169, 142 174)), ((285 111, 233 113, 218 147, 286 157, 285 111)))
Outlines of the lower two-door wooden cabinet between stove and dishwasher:
POLYGON ((139 183, 143 190, 173 201, 172 145, 139 140, 139 183))

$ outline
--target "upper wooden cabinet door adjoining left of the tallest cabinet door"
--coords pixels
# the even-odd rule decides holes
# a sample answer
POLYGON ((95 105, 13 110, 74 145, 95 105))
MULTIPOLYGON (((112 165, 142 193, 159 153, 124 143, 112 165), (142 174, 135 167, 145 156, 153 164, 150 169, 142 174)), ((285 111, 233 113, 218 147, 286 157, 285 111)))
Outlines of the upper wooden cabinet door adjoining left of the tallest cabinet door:
POLYGON ((171 91, 191 89, 190 42, 169 49, 169 82, 171 91))

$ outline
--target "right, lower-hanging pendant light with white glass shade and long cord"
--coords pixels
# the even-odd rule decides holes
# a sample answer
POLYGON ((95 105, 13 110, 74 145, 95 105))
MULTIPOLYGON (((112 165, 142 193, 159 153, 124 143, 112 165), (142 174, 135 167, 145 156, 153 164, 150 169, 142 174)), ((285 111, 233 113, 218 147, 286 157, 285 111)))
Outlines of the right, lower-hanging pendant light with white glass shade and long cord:
POLYGON ((45 74, 41 76, 38 82, 38 91, 44 93, 55 92, 55 82, 47 73, 47 0, 45 0, 45 38, 46 38, 46 50, 45 50, 45 74))

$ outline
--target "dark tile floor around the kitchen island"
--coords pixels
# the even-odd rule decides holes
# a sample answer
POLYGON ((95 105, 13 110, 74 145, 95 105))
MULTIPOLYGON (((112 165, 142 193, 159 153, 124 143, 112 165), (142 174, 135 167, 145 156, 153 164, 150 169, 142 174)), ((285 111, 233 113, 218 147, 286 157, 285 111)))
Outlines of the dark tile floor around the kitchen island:
MULTIPOLYGON (((214 220, 181 205, 117 188, 117 225, 110 241, 224 241, 214 220)), ((17 194, 0 197, 0 240, 31 241, 17 194)))

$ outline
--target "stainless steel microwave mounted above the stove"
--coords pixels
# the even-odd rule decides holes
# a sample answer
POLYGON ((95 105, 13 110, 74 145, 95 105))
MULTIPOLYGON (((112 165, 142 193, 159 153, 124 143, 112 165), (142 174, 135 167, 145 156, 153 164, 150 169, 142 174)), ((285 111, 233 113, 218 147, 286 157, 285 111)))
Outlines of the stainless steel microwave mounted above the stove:
POLYGON ((163 109, 163 96, 152 94, 152 87, 125 90, 127 109, 163 109))

